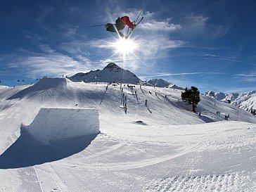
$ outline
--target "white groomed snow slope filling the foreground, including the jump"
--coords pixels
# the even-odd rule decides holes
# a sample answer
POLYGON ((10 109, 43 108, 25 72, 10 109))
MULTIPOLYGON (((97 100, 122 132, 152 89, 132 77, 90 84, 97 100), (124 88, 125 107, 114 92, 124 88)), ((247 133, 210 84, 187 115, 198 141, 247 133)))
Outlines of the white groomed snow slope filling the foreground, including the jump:
POLYGON ((1 88, 0 191, 256 191, 255 116, 207 96, 198 116, 180 90, 122 88, 127 113, 120 85, 1 88))

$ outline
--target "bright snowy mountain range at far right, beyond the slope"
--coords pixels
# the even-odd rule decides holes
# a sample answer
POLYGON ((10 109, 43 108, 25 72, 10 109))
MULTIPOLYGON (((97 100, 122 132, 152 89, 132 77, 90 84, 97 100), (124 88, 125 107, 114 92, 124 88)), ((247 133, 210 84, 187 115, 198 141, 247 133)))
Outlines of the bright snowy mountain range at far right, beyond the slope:
POLYGON ((256 91, 251 91, 248 93, 228 93, 224 94, 218 92, 215 94, 215 98, 220 101, 231 101, 233 105, 239 105, 240 108, 245 110, 256 109, 256 91))

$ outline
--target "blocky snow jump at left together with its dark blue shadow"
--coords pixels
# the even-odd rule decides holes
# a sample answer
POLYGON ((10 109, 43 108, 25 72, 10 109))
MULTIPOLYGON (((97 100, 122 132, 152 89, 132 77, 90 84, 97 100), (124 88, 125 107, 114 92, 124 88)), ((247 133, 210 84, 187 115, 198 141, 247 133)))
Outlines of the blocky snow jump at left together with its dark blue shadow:
POLYGON ((21 126, 20 137, 0 155, 0 169, 67 158, 87 148, 98 133, 98 110, 41 108, 32 124, 21 126))

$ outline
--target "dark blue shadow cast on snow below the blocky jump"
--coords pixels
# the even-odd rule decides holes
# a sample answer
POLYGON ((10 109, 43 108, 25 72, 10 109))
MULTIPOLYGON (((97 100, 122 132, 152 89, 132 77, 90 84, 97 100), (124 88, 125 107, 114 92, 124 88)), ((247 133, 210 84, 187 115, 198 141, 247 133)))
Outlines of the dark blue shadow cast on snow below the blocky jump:
POLYGON ((0 155, 0 169, 29 167, 67 158, 87 148, 96 136, 97 134, 92 134, 63 139, 46 145, 34 139, 24 127, 21 127, 20 137, 0 155))

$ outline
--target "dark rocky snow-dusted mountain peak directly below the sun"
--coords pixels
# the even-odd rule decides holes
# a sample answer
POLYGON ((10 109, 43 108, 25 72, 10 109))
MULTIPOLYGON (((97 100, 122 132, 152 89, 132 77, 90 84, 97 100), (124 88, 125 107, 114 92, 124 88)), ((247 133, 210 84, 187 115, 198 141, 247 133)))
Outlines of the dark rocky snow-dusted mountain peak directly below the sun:
POLYGON ((121 82, 139 84, 141 79, 129 70, 120 68, 115 63, 109 63, 103 70, 95 70, 87 73, 79 72, 70 77, 73 82, 121 82))

